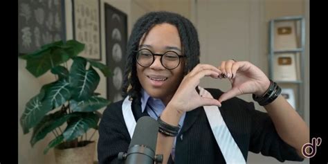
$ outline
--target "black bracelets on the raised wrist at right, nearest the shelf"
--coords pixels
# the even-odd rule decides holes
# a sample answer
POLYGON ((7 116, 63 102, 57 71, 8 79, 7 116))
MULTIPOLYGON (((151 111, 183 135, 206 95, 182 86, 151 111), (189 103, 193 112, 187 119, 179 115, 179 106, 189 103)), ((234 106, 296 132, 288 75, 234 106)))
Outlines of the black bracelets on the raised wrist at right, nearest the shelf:
POLYGON ((273 100, 275 100, 278 95, 280 95, 281 91, 282 90, 280 86, 270 80, 270 86, 268 87, 266 93, 264 93, 261 97, 257 97, 255 94, 253 94, 253 100, 258 102, 259 105, 264 106, 273 102, 273 100))

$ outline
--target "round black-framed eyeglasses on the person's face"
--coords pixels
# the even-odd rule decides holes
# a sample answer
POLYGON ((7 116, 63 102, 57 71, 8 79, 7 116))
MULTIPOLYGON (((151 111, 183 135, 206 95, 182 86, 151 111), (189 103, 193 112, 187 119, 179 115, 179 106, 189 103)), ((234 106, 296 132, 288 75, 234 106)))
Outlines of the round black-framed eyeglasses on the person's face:
POLYGON ((155 61, 155 56, 161 56, 161 64, 166 69, 175 69, 180 64, 180 58, 185 55, 178 55, 174 51, 166 51, 164 54, 152 53, 147 48, 136 51, 136 60, 140 66, 151 66, 155 61))

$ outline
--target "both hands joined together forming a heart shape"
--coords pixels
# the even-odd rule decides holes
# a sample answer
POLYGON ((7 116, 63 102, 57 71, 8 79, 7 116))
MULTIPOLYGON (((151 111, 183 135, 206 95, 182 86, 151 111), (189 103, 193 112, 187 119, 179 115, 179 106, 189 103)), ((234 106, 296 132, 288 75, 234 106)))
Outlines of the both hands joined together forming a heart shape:
POLYGON ((221 102, 237 95, 255 93, 255 95, 261 96, 270 85, 270 80, 266 75, 250 62, 228 60, 221 62, 221 66, 218 68, 209 64, 195 66, 188 75, 185 75, 172 100, 167 105, 179 113, 191 111, 201 106, 217 105, 221 107, 221 102), (205 76, 215 79, 228 78, 232 88, 222 94, 219 100, 203 98, 197 93, 196 87, 201 78, 205 76))

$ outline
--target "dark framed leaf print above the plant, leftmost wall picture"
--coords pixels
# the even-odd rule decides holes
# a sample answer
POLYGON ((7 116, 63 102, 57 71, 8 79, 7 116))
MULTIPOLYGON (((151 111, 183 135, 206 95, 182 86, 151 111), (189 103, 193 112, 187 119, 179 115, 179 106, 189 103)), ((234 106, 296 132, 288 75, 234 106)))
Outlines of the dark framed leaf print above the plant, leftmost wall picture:
POLYGON ((66 39, 64 0, 19 0, 18 3, 18 55, 66 39))

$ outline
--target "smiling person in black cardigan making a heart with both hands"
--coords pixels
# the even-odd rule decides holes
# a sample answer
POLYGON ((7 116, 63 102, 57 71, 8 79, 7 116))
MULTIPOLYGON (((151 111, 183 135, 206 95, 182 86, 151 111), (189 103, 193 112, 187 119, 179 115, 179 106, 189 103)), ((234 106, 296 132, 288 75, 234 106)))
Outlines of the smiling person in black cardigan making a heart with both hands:
POLYGON ((159 122, 156 154, 163 154, 163 163, 245 163, 248 151, 302 161, 309 129, 280 87, 250 62, 199 64, 199 54, 197 30, 188 19, 171 12, 138 19, 127 46, 125 100, 111 104, 100 122, 100 163, 122 163, 117 156, 129 147, 129 122, 142 116, 159 122), (228 79, 232 88, 203 89, 205 76, 228 79), (267 113, 235 98, 246 93, 267 113))

